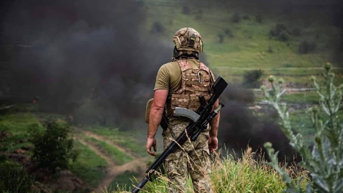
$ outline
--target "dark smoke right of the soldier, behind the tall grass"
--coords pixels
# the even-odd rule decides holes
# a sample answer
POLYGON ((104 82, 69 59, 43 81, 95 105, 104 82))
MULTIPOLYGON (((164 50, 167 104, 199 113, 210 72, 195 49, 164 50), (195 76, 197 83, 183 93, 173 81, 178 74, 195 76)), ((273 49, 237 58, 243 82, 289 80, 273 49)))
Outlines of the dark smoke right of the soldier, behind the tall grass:
POLYGON ((261 109, 260 106, 254 106, 251 91, 229 84, 220 100, 225 104, 220 114, 218 129, 218 140, 223 151, 229 153, 234 151, 239 158, 249 146, 258 153, 258 156, 263 156, 263 144, 269 141, 280 151, 279 161, 291 163, 301 160, 301 157, 295 156, 295 150, 281 131, 276 112, 268 106, 263 106, 261 109))

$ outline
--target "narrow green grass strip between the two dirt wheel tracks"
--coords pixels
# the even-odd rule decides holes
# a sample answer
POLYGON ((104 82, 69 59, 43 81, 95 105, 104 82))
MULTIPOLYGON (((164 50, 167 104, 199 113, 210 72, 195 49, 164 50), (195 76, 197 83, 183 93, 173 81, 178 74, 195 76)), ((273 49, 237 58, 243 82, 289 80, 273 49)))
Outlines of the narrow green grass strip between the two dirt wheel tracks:
POLYGON ((132 157, 121 152, 119 149, 107 144, 105 141, 97 140, 93 137, 84 137, 87 141, 94 143, 103 153, 110 156, 117 165, 125 164, 132 160, 132 157))

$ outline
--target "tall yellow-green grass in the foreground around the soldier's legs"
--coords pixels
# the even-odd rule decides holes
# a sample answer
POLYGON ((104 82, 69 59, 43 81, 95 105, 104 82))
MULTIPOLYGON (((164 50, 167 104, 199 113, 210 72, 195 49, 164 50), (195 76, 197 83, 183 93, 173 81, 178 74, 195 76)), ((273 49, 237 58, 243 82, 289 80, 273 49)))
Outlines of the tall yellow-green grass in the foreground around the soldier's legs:
MULTIPOLYGON (((211 184, 214 193, 277 193, 282 192, 285 184, 281 176, 271 167, 264 164, 263 157, 256 161, 255 152, 251 153, 248 148, 245 155, 237 159, 232 155, 220 158, 215 156, 212 162, 211 184)), ((294 174, 294 167, 288 168, 287 171, 293 173, 294 180, 297 181, 300 174, 294 174)), ((303 174, 301 172, 301 174, 303 174)), ((148 182, 141 192, 149 193, 167 193, 168 179, 165 175, 158 173, 153 182, 148 182)), ((137 184, 137 179, 133 179, 133 184, 137 184)), ((302 189, 309 179, 304 179, 300 184, 302 189)), ((188 178, 187 192, 193 192, 191 179, 188 178)), ((133 186, 131 186, 133 187, 133 186)), ((117 185, 115 191, 107 193, 124 193, 126 187, 117 185)))

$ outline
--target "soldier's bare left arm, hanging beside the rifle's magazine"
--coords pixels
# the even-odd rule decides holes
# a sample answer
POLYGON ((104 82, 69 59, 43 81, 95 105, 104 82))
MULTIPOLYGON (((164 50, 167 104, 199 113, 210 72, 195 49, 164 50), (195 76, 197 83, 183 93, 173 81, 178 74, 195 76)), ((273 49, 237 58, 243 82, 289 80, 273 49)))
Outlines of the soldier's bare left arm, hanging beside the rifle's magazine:
POLYGON ((146 151, 152 156, 156 156, 154 152, 151 151, 151 147, 154 148, 154 151, 157 151, 156 148, 156 139, 155 135, 158 129, 159 123, 161 123, 162 114, 164 110, 164 105, 166 103, 168 96, 168 90, 158 89, 154 93, 154 101, 151 105, 150 115, 149 115, 149 127, 148 127, 148 136, 146 140, 146 151))

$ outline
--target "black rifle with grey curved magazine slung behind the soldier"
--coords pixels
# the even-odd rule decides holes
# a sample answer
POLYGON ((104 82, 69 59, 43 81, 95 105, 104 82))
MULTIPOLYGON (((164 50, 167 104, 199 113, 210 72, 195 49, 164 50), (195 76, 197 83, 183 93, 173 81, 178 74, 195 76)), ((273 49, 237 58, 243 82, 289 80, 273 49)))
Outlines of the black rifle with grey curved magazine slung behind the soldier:
POLYGON ((179 146, 182 146, 187 140, 188 136, 192 141, 195 141, 200 132, 207 127, 207 124, 219 113, 219 111, 224 107, 224 104, 219 103, 217 108, 212 111, 214 103, 217 101, 219 96, 222 94, 224 89, 227 86, 227 82, 222 78, 218 77, 217 80, 214 82, 212 88, 214 93, 212 94, 211 98, 208 102, 205 101, 204 96, 199 96, 201 106, 197 110, 197 112, 176 107, 175 108, 175 115, 177 116, 185 116, 192 120, 193 122, 190 123, 184 132, 182 132, 175 141, 171 141, 171 143, 165 148, 162 154, 154 161, 154 163, 145 171, 147 175, 138 183, 137 186, 132 190, 132 193, 138 193, 143 186, 147 183, 147 181, 151 180, 151 175, 154 171, 164 162, 164 160, 173 153, 179 146))

